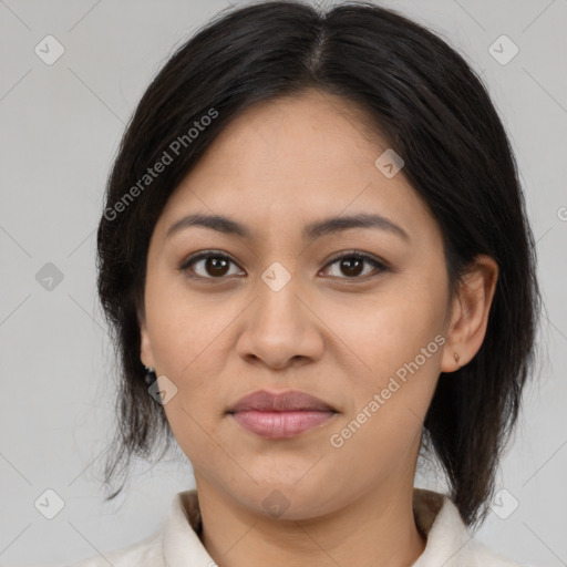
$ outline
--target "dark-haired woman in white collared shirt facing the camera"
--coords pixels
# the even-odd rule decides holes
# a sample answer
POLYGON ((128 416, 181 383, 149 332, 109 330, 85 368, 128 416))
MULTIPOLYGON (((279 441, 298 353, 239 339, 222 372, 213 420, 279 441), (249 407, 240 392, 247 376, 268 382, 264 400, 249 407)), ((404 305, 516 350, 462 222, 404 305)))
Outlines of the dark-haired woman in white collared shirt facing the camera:
POLYGON ((534 240, 446 43, 364 3, 224 14, 142 97, 97 243, 107 481, 164 435, 196 489, 80 567, 515 565, 468 528, 533 364, 534 240), (414 488, 420 451, 450 494, 414 488))

